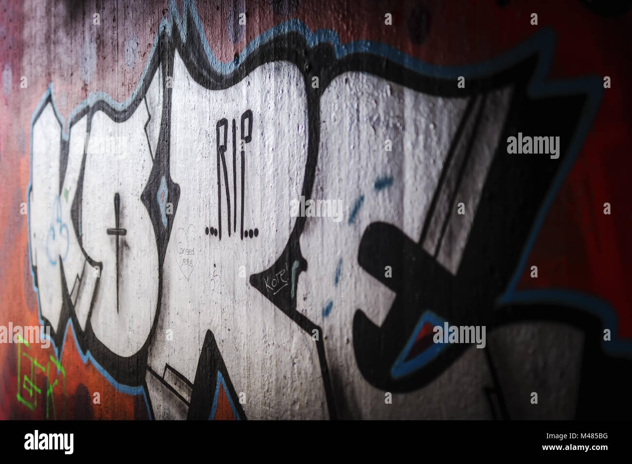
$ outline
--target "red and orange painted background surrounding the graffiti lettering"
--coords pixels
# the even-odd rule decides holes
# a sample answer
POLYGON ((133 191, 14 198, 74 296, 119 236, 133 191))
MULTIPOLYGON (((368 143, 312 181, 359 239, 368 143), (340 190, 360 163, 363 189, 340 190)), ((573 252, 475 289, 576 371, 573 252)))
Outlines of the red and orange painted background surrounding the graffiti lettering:
MULTIPOLYGON (((25 1, 0 0, 0 324, 38 325, 37 295, 28 257, 27 202, 30 181, 30 119, 49 83, 66 121, 73 108, 91 92, 114 100, 128 98, 140 81, 169 1, 25 1), (80 77, 85 27, 99 12, 97 64, 89 85, 80 77), (125 42, 138 38, 138 59, 126 66, 125 42), (10 77, 5 77, 9 76, 10 77), (21 76, 28 87, 20 88, 21 76), (6 83, 5 83, 6 82, 6 83)), ((181 1, 178 1, 181 9, 181 1)), ((632 211, 629 173, 632 169, 632 12, 605 17, 581 1, 524 2, 248 2, 248 27, 238 43, 228 30, 232 3, 197 4, 212 52, 231 61, 248 42, 291 18, 315 31, 337 32, 341 42, 372 40, 435 65, 458 66, 487 61, 528 39, 539 28, 552 28, 556 45, 547 79, 586 75, 609 76, 597 116, 580 155, 557 193, 528 258, 538 263, 538 279, 528 266, 518 289, 562 288, 595 295, 617 312, 619 337, 632 339, 632 211), (275 8, 283 4, 284 8, 275 8), (384 25, 385 13, 392 26, 384 25), (530 23, 537 13, 538 25, 530 23), (410 18, 413 18, 412 20, 410 18), (409 23, 418 21, 415 27, 409 23), (423 27, 427 25, 427 28, 423 27), (604 215, 604 203, 612 214, 604 215)), ((63 367, 66 373, 67 419, 146 419, 142 396, 117 391, 88 362, 84 364, 68 329, 63 367), (100 393, 100 404, 92 393, 100 393)), ((0 419, 44 419, 42 408, 29 410, 18 393, 15 344, 0 344, 0 419)), ((52 348, 36 348, 37 359, 48 359, 52 348)), ((61 402, 61 393, 54 391, 61 402)), ((61 403, 59 403, 61 404, 61 403)), ((58 411, 58 417, 61 412, 58 411)))

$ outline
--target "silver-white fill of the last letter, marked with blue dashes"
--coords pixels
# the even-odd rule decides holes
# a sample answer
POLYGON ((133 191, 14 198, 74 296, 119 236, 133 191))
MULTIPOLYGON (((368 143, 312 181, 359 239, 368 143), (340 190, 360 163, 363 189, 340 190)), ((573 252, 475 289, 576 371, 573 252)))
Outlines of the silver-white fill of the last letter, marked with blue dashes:
POLYGON ((355 311, 380 325, 395 298, 358 265, 362 234, 372 222, 387 222, 418 241, 456 130, 453 121, 466 104, 465 98, 430 97, 362 73, 338 76, 321 99, 313 191, 318 198, 341 199, 346 214, 339 223, 308 218, 300 239, 308 270, 299 278, 297 301, 327 336, 329 368, 342 387, 337 393, 345 401, 362 398, 357 417, 397 415, 383 407, 384 392, 363 379, 353 352, 355 311))

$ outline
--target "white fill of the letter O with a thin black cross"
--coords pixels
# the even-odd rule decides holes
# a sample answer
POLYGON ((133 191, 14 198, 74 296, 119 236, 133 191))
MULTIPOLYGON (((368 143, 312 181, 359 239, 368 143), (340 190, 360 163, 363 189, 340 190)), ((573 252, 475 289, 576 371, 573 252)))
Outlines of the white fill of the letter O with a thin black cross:
POLYGON ((83 178, 83 247, 88 256, 103 263, 92 327, 97 338, 120 356, 135 354, 147 340, 158 297, 154 229, 140 201, 152 169, 142 136, 147 116, 144 105, 120 124, 103 112, 95 113, 83 178), (125 235, 107 233, 116 228, 117 193, 119 228, 126 230, 125 235))

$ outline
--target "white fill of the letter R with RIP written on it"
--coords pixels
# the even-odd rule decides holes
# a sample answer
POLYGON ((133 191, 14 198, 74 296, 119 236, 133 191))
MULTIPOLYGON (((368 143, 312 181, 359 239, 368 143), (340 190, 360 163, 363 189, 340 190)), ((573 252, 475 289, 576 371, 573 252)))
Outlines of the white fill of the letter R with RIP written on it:
MULTIPOLYGON (((274 263, 294 225, 289 201, 300 195, 307 160, 307 101, 301 73, 287 62, 268 63, 231 88, 213 91, 195 83, 176 54, 173 81, 172 101, 178 104, 171 116, 171 177, 180 186, 180 200, 163 267, 150 367, 163 372, 168 363, 193 381, 205 333, 211 330, 236 392, 246 393, 246 417, 326 417, 322 388, 313 388, 322 379, 310 334, 248 282, 248 276, 274 263), (247 110, 253 121, 252 141, 244 144, 243 222, 246 230, 256 228, 258 235, 242 240, 240 140, 241 117, 247 110), (224 118, 231 221, 221 169, 220 240, 219 234, 207 235, 205 229, 219 229, 217 122, 224 118), (183 248, 190 254, 180 253, 183 248), (193 266, 183 265, 183 259, 192 259, 193 266), (173 330, 173 341, 166 340, 168 329, 173 330)), ((225 140, 222 126, 220 142, 225 140)))

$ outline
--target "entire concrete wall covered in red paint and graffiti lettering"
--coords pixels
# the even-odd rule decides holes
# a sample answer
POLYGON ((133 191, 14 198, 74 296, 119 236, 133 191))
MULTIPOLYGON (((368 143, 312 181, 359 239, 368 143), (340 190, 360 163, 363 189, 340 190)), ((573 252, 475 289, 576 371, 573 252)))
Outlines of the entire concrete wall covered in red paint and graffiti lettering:
POLYGON ((0 417, 628 414, 629 13, 2 8, 0 417))

